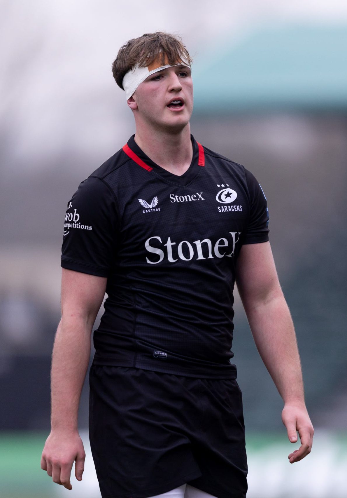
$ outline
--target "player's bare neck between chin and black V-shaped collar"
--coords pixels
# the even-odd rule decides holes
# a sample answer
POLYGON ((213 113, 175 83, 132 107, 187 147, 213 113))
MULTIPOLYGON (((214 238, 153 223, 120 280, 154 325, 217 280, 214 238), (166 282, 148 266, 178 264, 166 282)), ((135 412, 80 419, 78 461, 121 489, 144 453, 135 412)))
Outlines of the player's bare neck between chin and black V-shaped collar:
POLYGON ((136 126, 135 142, 152 161, 175 175, 182 175, 190 166, 193 147, 189 123, 178 133, 136 126))

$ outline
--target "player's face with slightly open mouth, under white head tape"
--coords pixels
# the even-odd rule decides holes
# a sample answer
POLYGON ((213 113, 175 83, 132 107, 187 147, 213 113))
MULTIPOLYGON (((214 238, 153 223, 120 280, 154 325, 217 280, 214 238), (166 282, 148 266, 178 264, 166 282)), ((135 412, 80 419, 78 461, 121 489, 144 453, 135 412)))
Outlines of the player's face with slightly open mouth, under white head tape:
POLYGON ((186 66, 153 73, 128 99, 137 124, 179 131, 189 123, 193 110, 193 82, 186 66), (173 101, 176 101, 172 103, 173 101))

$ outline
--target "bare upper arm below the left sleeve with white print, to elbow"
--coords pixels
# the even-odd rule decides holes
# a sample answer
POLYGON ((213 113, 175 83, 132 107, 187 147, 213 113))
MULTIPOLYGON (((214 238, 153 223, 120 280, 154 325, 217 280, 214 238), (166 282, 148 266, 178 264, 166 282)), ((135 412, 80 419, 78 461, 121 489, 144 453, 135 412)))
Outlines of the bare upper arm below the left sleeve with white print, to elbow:
POLYGON ((94 323, 106 291, 107 277, 62 269, 62 316, 86 319, 94 323))

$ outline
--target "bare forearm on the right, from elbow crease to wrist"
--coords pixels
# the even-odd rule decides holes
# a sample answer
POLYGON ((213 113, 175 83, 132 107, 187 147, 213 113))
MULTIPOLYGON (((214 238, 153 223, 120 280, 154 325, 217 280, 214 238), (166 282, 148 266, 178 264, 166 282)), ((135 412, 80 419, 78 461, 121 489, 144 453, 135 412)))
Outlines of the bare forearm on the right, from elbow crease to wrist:
POLYGON ((260 357, 283 401, 304 403, 296 335, 282 292, 253 303, 246 313, 260 357))

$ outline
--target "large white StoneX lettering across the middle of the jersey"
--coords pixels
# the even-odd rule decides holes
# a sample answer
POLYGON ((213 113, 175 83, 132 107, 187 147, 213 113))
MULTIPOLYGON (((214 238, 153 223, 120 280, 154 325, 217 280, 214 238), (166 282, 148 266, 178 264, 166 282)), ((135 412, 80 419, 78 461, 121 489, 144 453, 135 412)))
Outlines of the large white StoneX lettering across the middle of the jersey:
POLYGON ((192 244, 188 241, 181 241, 178 245, 171 241, 171 237, 168 237, 168 241, 164 244, 166 249, 161 249, 158 246, 158 242, 163 245, 163 241, 159 236, 153 236, 147 239, 145 242, 145 248, 148 252, 156 254, 153 256, 155 258, 149 259, 146 256, 146 261, 150 264, 158 264, 166 258, 169 263, 174 263, 178 261, 178 258, 183 261, 190 261, 195 256, 195 259, 210 259, 214 257, 233 257, 235 253, 236 244, 239 242, 241 232, 229 232, 231 237, 225 239, 222 237, 218 239, 214 244, 210 239, 203 239, 198 241, 193 241, 192 244), (174 246, 177 245, 177 248, 174 246), (224 249, 224 251, 223 251, 224 249), (222 252, 223 251, 223 252, 222 252), (228 254, 227 254, 228 252, 228 254))

